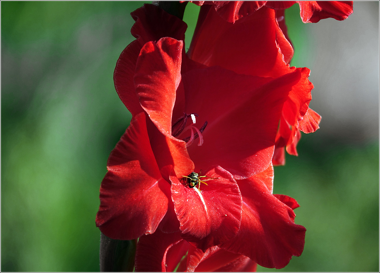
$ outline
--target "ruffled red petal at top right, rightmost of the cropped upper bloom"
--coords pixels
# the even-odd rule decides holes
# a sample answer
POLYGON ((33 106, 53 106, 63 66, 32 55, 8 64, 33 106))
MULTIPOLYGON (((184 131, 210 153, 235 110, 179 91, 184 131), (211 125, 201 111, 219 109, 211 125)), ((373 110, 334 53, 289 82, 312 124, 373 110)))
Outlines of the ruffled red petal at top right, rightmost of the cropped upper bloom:
POLYGON ((353 1, 297 1, 304 23, 334 18, 342 21, 353 12, 353 1))

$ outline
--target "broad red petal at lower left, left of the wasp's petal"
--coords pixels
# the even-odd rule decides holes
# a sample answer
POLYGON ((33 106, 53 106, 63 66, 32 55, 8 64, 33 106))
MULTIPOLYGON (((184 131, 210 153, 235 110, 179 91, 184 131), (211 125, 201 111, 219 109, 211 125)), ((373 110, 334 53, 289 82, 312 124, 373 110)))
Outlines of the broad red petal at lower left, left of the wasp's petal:
POLYGON ((149 144, 145 114, 131 121, 108 158, 100 186, 97 227, 112 239, 154 233, 168 208, 169 189, 149 144), (168 193, 166 193, 168 194, 168 193))

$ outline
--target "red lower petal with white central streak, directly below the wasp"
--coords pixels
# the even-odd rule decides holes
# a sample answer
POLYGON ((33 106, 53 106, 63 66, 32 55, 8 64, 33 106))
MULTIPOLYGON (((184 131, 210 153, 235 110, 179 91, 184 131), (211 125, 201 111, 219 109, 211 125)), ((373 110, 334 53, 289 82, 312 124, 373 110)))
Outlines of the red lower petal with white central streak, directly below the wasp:
MULTIPOLYGON (((208 185, 202 184, 200 192, 183 185, 176 176, 170 177, 181 236, 203 250, 236 235, 242 206, 239 188, 229 172, 217 166, 206 176, 218 179, 208 180, 208 185)), ((202 180, 205 179, 207 177, 202 180)))

